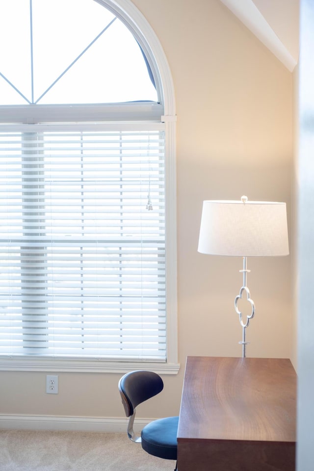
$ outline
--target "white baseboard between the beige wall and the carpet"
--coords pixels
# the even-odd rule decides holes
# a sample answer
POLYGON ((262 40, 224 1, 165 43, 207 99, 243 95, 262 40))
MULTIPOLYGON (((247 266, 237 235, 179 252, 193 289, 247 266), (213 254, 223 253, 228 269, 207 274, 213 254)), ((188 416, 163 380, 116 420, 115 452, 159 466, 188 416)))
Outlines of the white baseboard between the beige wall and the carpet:
MULTIPOLYGON (((135 419, 134 430, 141 430, 152 419, 135 419)), ((60 417, 0 414, 0 429, 58 430, 82 432, 126 432, 128 419, 113 417, 60 417)))

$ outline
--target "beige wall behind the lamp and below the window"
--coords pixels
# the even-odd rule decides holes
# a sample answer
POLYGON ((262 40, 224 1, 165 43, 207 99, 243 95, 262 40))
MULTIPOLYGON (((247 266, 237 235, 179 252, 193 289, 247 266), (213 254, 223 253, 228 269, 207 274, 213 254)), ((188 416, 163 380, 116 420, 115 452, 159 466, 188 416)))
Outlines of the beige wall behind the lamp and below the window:
MULTIPOLYGON (((167 56, 177 105, 178 375, 138 411, 179 413, 187 355, 240 356, 240 259, 197 252, 204 199, 285 201, 290 223, 292 75, 219 0, 134 0, 167 56)), ((250 259, 248 356, 289 357, 290 257, 250 259)), ((123 417, 118 374, 1 372, 0 412, 123 417)))

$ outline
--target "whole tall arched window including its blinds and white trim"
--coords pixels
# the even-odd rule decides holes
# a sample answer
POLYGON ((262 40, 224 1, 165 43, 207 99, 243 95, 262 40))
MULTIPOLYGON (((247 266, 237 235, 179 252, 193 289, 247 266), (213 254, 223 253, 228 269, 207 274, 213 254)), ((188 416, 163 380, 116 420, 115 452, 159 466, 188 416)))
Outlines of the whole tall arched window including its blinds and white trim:
POLYGON ((175 117, 159 42, 129 0, 8 3, 0 366, 175 371, 175 117))

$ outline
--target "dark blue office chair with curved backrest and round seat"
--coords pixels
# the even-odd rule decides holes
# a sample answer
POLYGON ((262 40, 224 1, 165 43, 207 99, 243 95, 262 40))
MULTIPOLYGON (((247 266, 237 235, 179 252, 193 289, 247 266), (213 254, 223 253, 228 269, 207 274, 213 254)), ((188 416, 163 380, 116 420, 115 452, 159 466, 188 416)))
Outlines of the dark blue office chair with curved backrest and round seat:
MULTIPOLYGON (((166 417, 153 420, 145 425, 140 436, 133 431, 135 408, 163 389, 163 381, 152 371, 131 371, 119 381, 119 392, 127 417, 128 436, 132 442, 142 444, 150 455, 166 460, 177 460, 177 431, 179 417, 166 417)), ((177 465, 176 469, 177 470, 177 465)))

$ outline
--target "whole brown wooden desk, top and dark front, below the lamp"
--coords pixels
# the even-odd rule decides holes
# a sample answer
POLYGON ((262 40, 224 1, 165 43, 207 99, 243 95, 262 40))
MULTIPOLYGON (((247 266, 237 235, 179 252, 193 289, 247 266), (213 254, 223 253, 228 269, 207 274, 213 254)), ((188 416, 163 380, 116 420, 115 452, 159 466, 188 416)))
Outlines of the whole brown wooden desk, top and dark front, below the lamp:
POLYGON ((187 357, 178 471, 294 471, 295 426, 289 360, 187 357))

